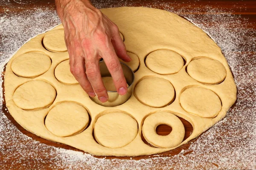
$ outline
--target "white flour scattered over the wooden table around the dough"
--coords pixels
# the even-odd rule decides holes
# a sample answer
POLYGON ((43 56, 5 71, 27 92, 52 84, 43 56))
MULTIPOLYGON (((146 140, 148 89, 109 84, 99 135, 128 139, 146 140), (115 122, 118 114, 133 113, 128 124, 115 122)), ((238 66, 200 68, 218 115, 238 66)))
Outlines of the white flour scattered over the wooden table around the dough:
MULTIPOLYGON (((3 4, 8 5, 9 1, 3 4)), ((192 142, 189 149, 175 156, 163 157, 159 154, 134 160, 99 159, 87 153, 35 141, 20 132, 1 112, 0 155, 4 159, 0 159, 0 169, 256 169, 256 52, 253 52, 256 51, 256 32, 255 28, 247 28, 252 23, 247 18, 209 6, 204 7, 205 14, 195 15, 188 13, 198 13, 201 9, 193 8, 187 12, 175 3, 163 3, 161 0, 154 1, 153 5, 147 4, 147 1, 142 1, 142 4, 153 8, 161 6, 180 14, 206 31, 221 47, 238 88, 237 102, 227 116, 192 142), (192 153, 184 156, 183 153, 188 151, 192 153)), ((106 0, 104 4, 94 5, 106 8, 135 6, 135 3, 131 0, 106 0)), ((3 11, 4 14, 0 15, 1 71, 24 42, 60 23, 52 8, 41 6, 15 13, 10 6, 3 8, 3 11)), ((0 90, 3 101, 3 89, 0 90)))

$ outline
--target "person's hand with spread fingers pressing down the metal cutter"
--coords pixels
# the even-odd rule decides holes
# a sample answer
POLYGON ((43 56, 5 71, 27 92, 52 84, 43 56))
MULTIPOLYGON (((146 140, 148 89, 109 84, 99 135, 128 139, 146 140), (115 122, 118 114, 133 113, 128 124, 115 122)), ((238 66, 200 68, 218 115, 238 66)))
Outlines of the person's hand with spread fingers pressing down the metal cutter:
POLYGON ((118 57, 128 56, 119 28, 89 0, 56 0, 58 15, 64 26, 65 42, 70 56, 70 71, 89 96, 108 101, 102 82, 99 60, 104 59, 120 95, 127 93, 127 84, 118 57))

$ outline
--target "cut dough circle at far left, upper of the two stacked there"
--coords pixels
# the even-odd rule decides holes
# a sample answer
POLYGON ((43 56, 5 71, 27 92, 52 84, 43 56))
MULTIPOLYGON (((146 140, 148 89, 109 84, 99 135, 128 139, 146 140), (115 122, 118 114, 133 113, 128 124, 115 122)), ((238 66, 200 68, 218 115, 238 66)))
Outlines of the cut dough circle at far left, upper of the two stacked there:
POLYGON ((13 60, 12 71, 20 77, 34 78, 44 74, 51 67, 51 59, 41 53, 25 53, 13 60))

